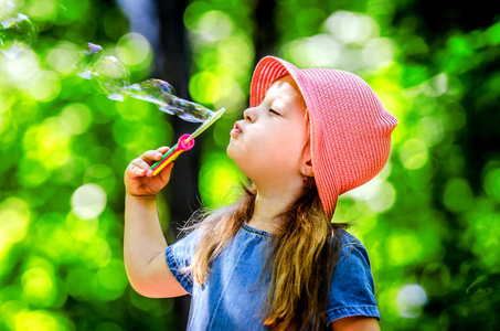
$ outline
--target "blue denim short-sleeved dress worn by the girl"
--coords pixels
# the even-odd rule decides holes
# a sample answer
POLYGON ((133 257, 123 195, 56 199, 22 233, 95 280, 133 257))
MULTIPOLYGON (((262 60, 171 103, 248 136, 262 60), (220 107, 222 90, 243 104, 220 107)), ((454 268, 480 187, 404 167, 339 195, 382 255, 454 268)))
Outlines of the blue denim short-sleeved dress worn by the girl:
MULTIPOLYGON (((213 261, 209 279, 200 285, 190 273, 198 231, 166 250, 170 271, 192 296, 188 330, 266 330, 264 302, 268 285, 258 282, 272 234, 244 224, 213 261)), ((358 238, 343 232, 338 264, 330 282, 327 322, 365 316, 380 319, 370 260, 358 238)))

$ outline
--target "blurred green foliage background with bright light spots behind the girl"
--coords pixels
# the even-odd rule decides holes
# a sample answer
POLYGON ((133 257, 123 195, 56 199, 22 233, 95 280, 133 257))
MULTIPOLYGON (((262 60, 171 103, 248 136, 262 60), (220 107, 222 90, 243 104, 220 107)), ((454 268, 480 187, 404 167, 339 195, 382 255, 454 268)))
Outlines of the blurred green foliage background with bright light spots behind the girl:
MULTIPOLYGON (((1 0, 2 4, 6 3, 1 0)), ((500 324, 500 22, 493 3, 418 0, 24 0, 30 49, 0 54, 0 330, 182 330, 187 299, 147 299, 123 263, 128 162, 196 125, 113 102, 75 75, 86 42, 135 82, 166 79, 226 115, 159 199, 169 243, 231 203, 226 157, 267 54, 362 76, 400 119, 390 162, 336 221, 372 261, 383 330, 500 324)), ((1 13, 1 12, 0 12, 1 13)), ((0 50, 7 44, 0 45, 0 50)))

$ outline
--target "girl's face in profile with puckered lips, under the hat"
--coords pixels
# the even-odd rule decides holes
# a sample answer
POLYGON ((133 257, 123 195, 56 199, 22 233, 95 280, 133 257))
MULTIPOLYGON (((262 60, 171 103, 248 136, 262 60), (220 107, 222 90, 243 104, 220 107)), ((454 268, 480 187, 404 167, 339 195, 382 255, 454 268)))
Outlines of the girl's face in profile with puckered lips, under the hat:
POLYGON ((277 79, 260 105, 246 109, 243 116, 231 131, 230 158, 257 188, 301 181, 309 137, 306 106, 291 77, 277 79))

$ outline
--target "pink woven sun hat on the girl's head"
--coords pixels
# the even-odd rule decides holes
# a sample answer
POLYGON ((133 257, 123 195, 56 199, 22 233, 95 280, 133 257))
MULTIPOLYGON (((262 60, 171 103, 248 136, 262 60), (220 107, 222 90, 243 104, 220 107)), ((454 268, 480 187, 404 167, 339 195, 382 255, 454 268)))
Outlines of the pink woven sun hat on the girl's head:
POLYGON ((264 57, 255 67, 251 107, 258 106, 274 81, 286 74, 306 102, 315 182, 331 217, 340 194, 366 183, 385 166, 397 119, 359 76, 330 68, 299 70, 275 56, 264 57))

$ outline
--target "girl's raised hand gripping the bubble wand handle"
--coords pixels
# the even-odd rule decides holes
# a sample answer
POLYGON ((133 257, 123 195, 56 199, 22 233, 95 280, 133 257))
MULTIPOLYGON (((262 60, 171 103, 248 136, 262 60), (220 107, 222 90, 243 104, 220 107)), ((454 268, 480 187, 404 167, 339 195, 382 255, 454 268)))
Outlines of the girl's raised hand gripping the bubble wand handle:
POLYGON ((155 177, 151 166, 160 160, 169 149, 168 147, 160 147, 157 150, 148 150, 128 164, 124 179, 127 194, 153 199, 167 185, 173 163, 168 164, 155 177))

